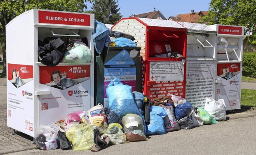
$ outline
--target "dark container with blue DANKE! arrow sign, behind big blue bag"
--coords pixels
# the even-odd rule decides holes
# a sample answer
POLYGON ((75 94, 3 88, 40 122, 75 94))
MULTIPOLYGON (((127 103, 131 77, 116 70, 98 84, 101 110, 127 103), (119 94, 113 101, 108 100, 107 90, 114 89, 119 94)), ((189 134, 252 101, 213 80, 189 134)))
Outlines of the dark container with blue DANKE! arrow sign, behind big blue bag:
POLYGON ((132 91, 141 92, 141 47, 104 47, 96 53, 95 61, 95 103, 108 107, 106 88, 114 79, 132 86, 132 91))

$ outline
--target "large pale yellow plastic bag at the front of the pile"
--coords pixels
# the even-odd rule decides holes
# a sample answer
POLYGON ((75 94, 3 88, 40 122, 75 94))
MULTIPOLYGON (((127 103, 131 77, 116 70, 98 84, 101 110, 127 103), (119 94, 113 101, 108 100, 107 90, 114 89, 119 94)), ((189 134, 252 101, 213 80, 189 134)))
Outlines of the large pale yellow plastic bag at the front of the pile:
POLYGON ((66 137, 75 151, 92 149, 94 145, 94 131, 90 124, 74 124, 66 131, 66 137))

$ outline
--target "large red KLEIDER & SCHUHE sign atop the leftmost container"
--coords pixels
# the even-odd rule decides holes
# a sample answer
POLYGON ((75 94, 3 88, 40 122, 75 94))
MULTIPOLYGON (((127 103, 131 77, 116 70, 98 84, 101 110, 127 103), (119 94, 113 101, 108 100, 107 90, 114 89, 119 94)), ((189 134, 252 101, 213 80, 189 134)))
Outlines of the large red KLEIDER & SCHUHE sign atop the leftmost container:
POLYGON ((89 14, 74 14, 65 12, 38 11, 38 22, 48 24, 64 24, 90 26, 89 14))

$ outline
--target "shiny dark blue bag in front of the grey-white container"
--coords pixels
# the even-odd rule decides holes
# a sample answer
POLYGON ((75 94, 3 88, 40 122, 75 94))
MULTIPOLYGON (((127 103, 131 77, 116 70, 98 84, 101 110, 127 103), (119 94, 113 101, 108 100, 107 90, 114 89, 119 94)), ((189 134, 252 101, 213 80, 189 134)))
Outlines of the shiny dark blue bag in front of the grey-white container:
POLYGON ((190 115, 192 111, 192 106, 190 102, 186 101, 185 103, 178 104, 174 111, 175 111, 176 120, 180 120, 181 118, 184 118, 185 116, 190 115))

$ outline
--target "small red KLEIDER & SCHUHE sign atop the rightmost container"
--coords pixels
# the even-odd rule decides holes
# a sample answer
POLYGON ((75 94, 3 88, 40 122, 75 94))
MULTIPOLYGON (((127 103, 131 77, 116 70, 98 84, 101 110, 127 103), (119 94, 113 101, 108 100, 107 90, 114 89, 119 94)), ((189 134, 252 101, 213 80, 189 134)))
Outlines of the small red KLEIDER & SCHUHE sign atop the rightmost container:
POLYGON ((219 26, 219 34, 243 35, 242 27, 238 26, 219 26))

